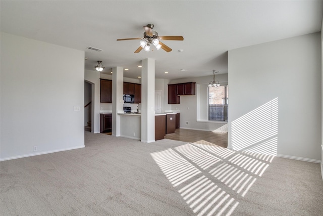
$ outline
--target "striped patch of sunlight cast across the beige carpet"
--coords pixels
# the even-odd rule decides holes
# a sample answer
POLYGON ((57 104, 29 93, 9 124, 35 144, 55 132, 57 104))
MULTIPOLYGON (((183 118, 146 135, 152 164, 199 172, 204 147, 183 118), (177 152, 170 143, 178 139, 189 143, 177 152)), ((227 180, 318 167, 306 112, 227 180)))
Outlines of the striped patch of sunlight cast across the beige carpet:
POLYGON ((274 157, 204 140, 150 155, 196 215, 231 215, 274 157))

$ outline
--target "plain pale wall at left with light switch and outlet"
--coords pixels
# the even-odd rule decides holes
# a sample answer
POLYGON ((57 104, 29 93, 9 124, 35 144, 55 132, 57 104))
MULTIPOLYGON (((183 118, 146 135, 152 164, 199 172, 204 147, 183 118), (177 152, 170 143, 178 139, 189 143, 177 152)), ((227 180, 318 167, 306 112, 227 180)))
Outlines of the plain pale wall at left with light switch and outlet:
POLYGON ((84 147, 83 51, 1 32, 0 71, 0 160, 84 147))

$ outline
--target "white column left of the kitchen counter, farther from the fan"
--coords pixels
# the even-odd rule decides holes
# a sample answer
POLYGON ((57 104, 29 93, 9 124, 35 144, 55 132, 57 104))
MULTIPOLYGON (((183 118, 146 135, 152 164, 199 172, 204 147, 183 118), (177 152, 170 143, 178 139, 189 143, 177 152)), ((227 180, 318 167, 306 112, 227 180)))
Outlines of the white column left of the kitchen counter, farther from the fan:
POLYGON ((112 68, 112 136, 120 137, 120 116, 123 111, 123 68, 112 68))

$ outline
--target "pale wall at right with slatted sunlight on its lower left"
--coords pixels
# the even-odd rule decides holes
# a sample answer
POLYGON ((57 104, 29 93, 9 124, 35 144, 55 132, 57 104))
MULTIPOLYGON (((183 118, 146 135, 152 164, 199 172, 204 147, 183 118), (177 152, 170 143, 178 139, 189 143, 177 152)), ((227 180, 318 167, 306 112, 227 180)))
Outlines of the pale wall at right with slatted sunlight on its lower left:
MULTIPOLYGON (((248 139, 252 125, 240 126, 239 132, 233 125, 246 116, 250 120, 252 115, 259 116, 253 119, 254 124, 263 121, 265 116, 255 111, 277 100, 278 155, 321 160, 320 33, 229 51, 229 83, 228 148, 235 149, 238 137, 241 143, 253 142, 259 134, 266 137, 263 131, 254 131, 248 139)), ((241 125, 245 123, 241 121, 241 125)))

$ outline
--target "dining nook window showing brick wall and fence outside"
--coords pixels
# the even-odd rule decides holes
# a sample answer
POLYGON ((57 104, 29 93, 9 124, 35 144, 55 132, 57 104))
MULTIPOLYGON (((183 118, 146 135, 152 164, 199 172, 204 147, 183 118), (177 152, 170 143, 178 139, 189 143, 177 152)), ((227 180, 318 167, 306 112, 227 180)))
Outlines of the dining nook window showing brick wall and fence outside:
POLYGON ((208 87, 208 120, 228 121, 228 85, 208 87))

